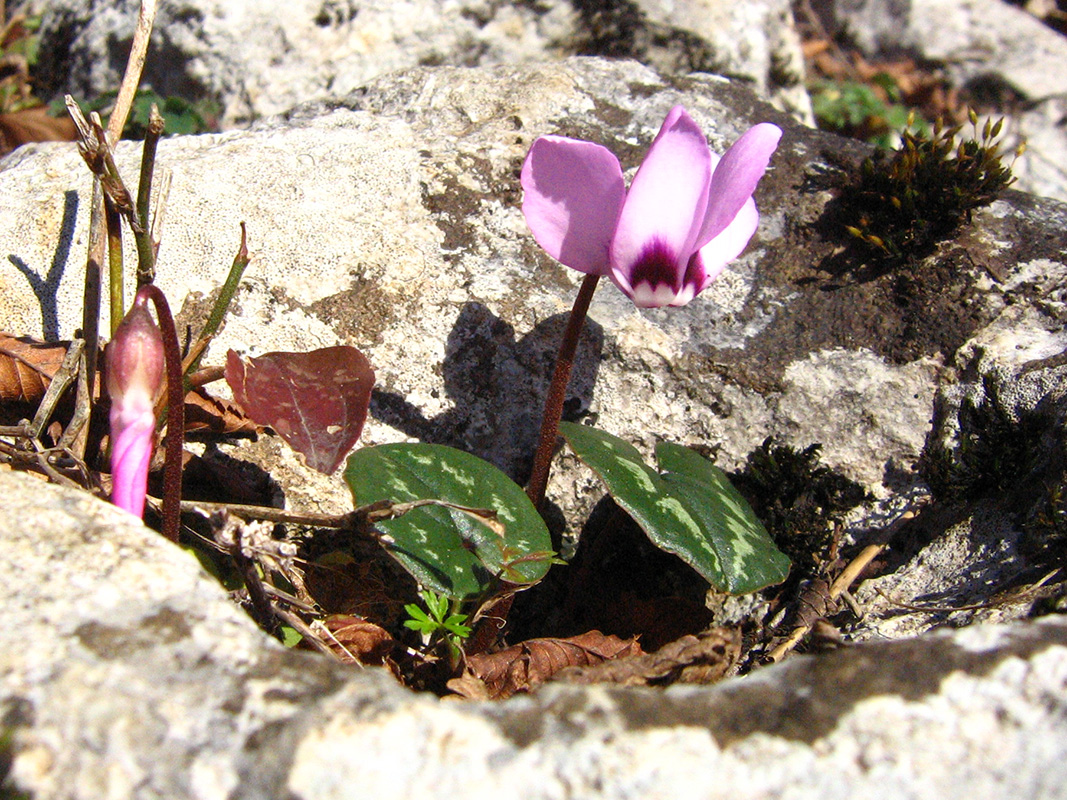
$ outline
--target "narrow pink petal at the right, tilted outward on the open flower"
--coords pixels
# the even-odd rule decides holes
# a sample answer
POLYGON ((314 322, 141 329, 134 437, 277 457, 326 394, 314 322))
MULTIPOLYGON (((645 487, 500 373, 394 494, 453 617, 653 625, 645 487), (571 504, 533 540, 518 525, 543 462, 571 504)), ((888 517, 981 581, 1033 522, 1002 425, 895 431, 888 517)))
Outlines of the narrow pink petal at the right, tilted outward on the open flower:
POLYGON ((712 174, 707 213, 697 241, 698 247, 719 236, 737 218, 742 206, 751 198, 755 185, 766 172, 781 138, 782 130, 777 125, 760 123, 723 154, 712 174))

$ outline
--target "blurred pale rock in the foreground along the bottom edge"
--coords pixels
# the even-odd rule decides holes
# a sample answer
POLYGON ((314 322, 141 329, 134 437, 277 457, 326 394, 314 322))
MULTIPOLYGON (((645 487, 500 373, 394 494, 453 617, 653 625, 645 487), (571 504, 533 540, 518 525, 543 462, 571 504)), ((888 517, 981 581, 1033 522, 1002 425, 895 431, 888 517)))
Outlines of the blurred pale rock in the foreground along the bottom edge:
POLYGON ((489 705, 287 652, 133 517, 10 471, 0 564, 0 721, 37 800, 1067 796, 1062 618, 489 705))

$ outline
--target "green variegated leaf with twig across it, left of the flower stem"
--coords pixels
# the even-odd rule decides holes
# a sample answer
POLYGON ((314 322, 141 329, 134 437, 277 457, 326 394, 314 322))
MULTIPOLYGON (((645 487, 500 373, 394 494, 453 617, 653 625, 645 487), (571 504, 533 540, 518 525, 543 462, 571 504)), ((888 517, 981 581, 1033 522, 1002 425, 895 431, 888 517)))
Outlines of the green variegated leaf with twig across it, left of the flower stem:
POLYGON ((493 532, 459 509, 424 506, 378 523, 389 554, 426 589, 462 599, 483 594, 498 575, 532 583, 552 564, 552 541, 526 493, 476 455, 443 445, 393 444, 352 453, 345 470, 356 507, 380 500, 444 500, 490 509, 493 532))

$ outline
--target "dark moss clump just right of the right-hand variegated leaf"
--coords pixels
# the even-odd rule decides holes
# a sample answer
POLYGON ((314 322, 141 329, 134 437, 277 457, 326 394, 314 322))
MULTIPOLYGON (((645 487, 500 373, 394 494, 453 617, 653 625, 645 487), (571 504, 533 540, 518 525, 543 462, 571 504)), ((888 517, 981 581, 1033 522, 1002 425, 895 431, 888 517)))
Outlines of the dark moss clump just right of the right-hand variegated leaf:
POLYGON ((831 560, 834 529, 866 498, 858 483, 818 463, 821 449, 813 444, 798 450, 768 437, 731 476, 796 574, 806 577, 831 560))

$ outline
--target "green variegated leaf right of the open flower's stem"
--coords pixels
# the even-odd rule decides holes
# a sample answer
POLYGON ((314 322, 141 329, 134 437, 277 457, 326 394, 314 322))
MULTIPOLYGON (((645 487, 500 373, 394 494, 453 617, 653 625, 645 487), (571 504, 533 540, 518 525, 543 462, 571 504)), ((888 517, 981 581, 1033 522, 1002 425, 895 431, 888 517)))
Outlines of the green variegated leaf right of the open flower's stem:
POLYGON ((560 422, 559 431, 652 543, 716 589, 744 594, 785 579, 789 559, 726 475, 706 459, 662 444, 656 448, 660 474, 618 436, 573 422, 560 422))

